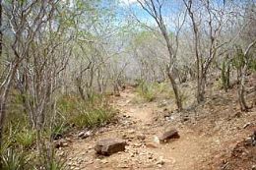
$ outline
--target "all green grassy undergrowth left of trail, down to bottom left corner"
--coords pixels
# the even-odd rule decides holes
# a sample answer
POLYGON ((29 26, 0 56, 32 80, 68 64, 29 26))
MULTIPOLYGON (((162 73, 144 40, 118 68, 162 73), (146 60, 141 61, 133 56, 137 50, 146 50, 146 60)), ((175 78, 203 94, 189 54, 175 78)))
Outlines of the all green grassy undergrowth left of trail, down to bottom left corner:
MULTIPOLYGON (((115 111, 107 103, 104 96, 93 95, 83 100, 76 95, 61 96, 57 102, 57 115, 53 125, 43 129, 41 142, 61 138, 71 125, 78 128, 96 127, 108 122, 115 111)), ((66 169, 64 162, 55 156, 54 149, 49 143, 47 149, 36 152, 32 146, 36 142, 36 133, 30 125, 30 118, 22 107, 21 97, 13 95, 10 110, 8 110, 4 129, 4 142, 0 148, 0 164, 3 170, 66 169), (16 116, 17 115, 17 116, 16 116), (51 151, 49 151, 51 150, 51 151)))

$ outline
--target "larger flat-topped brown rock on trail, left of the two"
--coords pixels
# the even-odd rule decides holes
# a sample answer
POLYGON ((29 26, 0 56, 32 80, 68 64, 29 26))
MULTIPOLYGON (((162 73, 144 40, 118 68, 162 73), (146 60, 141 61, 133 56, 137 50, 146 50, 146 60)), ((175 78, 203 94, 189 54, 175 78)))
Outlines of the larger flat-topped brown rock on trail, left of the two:
POLYGON ((127 143, 120 139, 104 139, 96 142, 95 150, 100 155, 111 155, 118 151, 124 151, 127 143))

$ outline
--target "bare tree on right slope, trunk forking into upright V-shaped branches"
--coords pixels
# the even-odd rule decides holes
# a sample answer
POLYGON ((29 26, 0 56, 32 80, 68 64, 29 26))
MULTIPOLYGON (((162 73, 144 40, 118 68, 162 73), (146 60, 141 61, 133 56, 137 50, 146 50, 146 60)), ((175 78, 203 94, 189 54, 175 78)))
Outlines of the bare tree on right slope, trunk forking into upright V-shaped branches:
MULTIPOLYGON (((226 42, 220 42, 220 35, 224 23, 224 6, 220 9, 215 9, 212 2, 209 0, 200 0, 200 7, 194 0, 183 0, 192 23, 194 33, 194 52, 196 57, 196 73, 197 73, 197 101, 204 101, 205 87, 207 83, 207 75, 209 68, 218 54, 218 50, 224 46, 226 42), (203 11, 201 14, 200 10, 203 11), (207 15, 205 15, 207 14, 207 15), (205 28, 206 36, 204 37, 205 28), (203 40, 209 42, 209 45, 203 47, 203 40), (204 53, 207 50, 207 53, 204 53)), ((225 3, 224 3, 225 5, 225 3)), ((207 44, 207 43, 205 43, 207 44)))

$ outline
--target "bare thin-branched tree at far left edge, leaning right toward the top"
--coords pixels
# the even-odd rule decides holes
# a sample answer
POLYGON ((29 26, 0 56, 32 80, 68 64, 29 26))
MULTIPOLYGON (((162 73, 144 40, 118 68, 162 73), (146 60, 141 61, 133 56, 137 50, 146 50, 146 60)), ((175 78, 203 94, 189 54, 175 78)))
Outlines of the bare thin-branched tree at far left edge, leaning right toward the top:
MULTIPOLYGON (((30 48, 36 33, 51 19, 58 1, 11 1, 3 6, 8 18, 13 41, 13 55, 6 59, 7 67, 2 75, 0 85, 0 144, 6 115, 6 102, 11 86, 14 83, 18 69, 29 56, 30 48), (32 15, 33 14, 33 15, 32 15)), ((10 32, 9 32, 10 33, 10 32)))

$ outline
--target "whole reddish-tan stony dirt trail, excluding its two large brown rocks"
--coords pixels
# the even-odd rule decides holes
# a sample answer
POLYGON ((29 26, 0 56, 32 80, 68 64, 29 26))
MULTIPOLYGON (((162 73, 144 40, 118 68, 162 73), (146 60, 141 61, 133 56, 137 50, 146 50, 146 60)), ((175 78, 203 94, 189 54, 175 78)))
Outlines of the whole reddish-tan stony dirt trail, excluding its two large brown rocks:
POLYGON ((156 121, 162 108, 156 101, 132 102, 136 95, 133 89, 125 89, 113 98, 112 105, 120 111, 118 123, 101 128, 85 140, 74 139, 69 147, 58 150, 67 157, 69 169, 212 169, 206 162, 215 151, 226 147, 218 137, 192 130, 178 119, 156 121), (159 143, 158 137, 170 127, 178 130, 180 138, 159 143), (96 155, 96 142, 107 138, 125 140, 125 151, 96 155))

